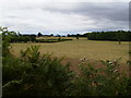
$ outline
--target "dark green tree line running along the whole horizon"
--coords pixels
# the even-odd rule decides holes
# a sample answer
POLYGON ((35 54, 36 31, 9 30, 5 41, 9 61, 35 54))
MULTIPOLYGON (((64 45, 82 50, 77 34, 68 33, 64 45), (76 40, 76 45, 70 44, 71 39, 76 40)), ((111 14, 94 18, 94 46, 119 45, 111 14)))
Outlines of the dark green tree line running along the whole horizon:
MULTIPOLYGON (((5 28, 7 29, 7 28, 5 28)), ((3 30, 2 36, 4 37, 7 35, 8 30, 3 30)), ((36 40, 36 37, 41 37, 41 36, 48 36, 51 37, 51 35, 43 35, 41 33, 38 33, 37 35, 22 35, 20 33, 15 32, 10 32, 11 40, 10 42, 27 42, 27 41, 33 41, 37 42, 39 40, 36 40)), ((60 35, 57 35, 60 39, 60 35)), ((92 32, 92 33, 85 33, 85 34, 68 34, 67 37, 87 37, 88 40, 111 40, 111 41, 131 41, 131 32, 128 30, 112 30, 112 32, 92 32)), ((44 40, 45 41, 45 40, 44 40)))

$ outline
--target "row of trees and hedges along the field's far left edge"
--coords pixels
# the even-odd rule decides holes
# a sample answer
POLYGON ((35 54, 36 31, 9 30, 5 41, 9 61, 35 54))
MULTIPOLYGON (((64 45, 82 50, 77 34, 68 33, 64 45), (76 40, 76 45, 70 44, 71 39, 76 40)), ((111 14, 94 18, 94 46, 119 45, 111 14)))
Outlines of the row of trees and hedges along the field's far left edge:
POLYGON ((2 32, 2 38, 4 40, 7 35, 10 35, 10 42, 58 42, 58 41, 64 41, 64 40, 72 40, 72 39, 64 39, 61 38, 60 35, 57 35, 56 37, 58 38, 50 38, 50 39, 37 39, 36 37, 51 37, 53 36, 51 35, 43 35, 40 33, 38 33, 37 35, 22 35, 20 33, 15 33, 15 32, 9 32, 7 30, 8 28, 5 28, 5 30, 2 32))

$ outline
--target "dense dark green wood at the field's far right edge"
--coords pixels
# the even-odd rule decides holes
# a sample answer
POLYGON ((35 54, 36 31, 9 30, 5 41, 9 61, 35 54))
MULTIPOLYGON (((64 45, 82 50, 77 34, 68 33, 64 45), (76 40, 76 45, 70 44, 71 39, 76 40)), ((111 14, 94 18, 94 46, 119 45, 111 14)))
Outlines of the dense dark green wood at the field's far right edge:
POLYGON ((131 32, 93 32, 87 34, 90 40, 118 40, 130 41, 131 32))

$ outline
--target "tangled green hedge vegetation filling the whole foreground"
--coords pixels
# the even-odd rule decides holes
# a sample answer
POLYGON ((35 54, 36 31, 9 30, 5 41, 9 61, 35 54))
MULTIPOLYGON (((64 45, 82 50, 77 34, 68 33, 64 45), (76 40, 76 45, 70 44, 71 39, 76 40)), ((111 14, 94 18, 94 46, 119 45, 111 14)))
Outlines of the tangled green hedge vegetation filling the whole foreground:
MULTIPOLYGON (((3 36, 3 96, 130 96, 131 78, 119 71, 119 60, 100 60, 103 68, 95 68, 82 60, 79 73, 61 58, 40 54, 39 46, 11 53, 10 33, 3 36)), ((127 65, 130 61, 127 62, 127 65)))

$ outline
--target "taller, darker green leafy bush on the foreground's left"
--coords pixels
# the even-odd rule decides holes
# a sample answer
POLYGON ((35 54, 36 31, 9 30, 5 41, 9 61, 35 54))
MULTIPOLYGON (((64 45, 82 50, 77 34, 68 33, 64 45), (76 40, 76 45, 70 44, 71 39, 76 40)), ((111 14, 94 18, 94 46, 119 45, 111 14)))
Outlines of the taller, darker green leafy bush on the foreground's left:
POLYGON ((50 54, 40 57, 38 49, 32 46, 20 59, 7 58, 3 62, 3 96, 67 95, 73 76, 69 64, 62 65, 62 59, 51 59, 50 54))

